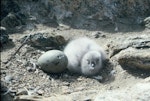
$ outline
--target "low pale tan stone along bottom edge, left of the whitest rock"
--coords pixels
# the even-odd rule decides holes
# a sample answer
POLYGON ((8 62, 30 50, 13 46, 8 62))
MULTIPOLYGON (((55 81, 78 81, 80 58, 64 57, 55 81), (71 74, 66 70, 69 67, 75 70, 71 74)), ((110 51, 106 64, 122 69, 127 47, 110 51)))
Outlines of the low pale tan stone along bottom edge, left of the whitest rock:
POLYGON ((66 95, 55 95, 51 97, 41 96, 17 96, 14 101, 31 100, 31 101, 93 101, 97 90, 79 91, 66 95), (87 96, 88 95, 88 96, 87 96))

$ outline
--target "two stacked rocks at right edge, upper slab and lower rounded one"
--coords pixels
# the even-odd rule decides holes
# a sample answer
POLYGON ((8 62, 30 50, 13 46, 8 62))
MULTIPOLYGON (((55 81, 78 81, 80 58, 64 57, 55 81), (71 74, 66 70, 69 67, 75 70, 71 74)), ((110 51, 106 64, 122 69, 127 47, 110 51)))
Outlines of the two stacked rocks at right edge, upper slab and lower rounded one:
POLYGON ((108 44, 109 56, 122 67, 150 69, 150 34, 118 37, 108 44))

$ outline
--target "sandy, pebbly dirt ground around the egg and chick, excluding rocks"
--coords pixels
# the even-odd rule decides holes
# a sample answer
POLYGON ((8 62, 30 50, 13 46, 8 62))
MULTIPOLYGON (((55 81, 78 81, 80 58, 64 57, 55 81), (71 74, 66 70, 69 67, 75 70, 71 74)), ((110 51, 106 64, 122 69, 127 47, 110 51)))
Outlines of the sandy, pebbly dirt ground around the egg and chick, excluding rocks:
MULTIPOLYGON (((95 40, 102 45, 108 52, 108 43, 119 37, 129 37, 131 35, 146 35, 149 34, 148 30, 130 31, 130 32, 106 32, 100 31, 102 36, 94 38, 93 33, 97 32, 88 29, 73 29, 64 27, 48 27, 44 25, 36 25, 37 29, 34 32, 49 32, 62 35, 66 40, 75 37, 87 36, 95 40)), ((31 33, 31 30, 10 34, 10 38, 13 39, 13 43, 4 45, 1 51, 1 84, 2 87, 6 87, 4 93, 11 88, 9 92, 12 97, 17 96, 19 90, 24 89, 33 95, 40 96, 53 96, 57 94, 70 94, 73 92, 86 91, 86 90, 114 90, 122 89, 134 85, 137 82, 141 82, 147 76, 143 76, 144 73, 138 74, 138 76, 129 73, 124 70, 115 60, 109 59, 106 66, 99 74, 100 79, 92 77, 85 77, 82 75, 72 74, 69 71, 65 71, 61 74, 47 74, 39 69, 38 66, 33 68, 33 64, 37 62, 42 52, 39 49, 30 47, 29 45, 23 46, 15 57, 7 61, 10 56, 21 45, 19 40, 31 33), (30 67, 30 70, 28 69, 30 67), (12 79, 10 82, 6 81, 6 77, 10 75, 12 79)), ((136 71, 135 71, 136 73, 136 71)), ((19 94, 18 94, 19 95, 19 94)))

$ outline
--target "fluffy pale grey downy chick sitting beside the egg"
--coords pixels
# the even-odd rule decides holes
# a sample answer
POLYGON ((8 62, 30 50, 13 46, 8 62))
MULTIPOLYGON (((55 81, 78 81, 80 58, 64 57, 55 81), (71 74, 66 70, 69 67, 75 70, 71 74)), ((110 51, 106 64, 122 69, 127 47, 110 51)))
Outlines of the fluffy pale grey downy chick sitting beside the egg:
POLYGON ((85 76, 97 75, 106 59, 103 48, 87 37, 70 41, 64 53, 68 58, 68 70, 85 76))

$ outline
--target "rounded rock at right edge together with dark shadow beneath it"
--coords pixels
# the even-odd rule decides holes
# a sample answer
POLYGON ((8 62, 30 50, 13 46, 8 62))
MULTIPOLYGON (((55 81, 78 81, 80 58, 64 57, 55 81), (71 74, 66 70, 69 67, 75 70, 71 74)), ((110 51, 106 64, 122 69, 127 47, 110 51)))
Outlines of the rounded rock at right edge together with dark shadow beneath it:
POLYGON ((128 48, 121 51, 118 62, 134 76, 145 78, 150 76, 149 49, 128 48))

